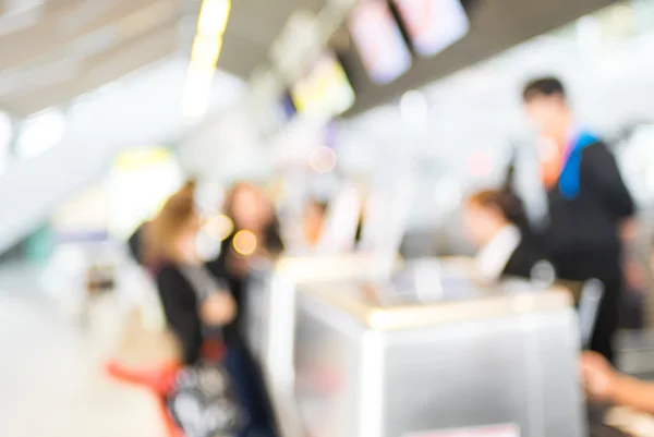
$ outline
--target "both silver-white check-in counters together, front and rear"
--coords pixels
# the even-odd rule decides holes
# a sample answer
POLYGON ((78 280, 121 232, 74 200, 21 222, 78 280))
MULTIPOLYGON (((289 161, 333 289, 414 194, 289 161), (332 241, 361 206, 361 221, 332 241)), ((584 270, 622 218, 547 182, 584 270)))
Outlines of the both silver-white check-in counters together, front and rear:
MULTIPOLYGON (((465 263, 438 260, 373 286, 365 263, 253 271, 246 340, 281 437, 588 435, 568 290, 479 289, 465 263)), ((596 417, 590 428, 621 436, 596 417)))

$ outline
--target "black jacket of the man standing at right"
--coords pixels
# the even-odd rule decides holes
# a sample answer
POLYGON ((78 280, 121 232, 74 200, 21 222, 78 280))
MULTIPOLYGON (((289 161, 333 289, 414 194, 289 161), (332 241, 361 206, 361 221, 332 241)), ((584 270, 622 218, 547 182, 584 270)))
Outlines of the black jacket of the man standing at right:
POLYGON ((546 245, 561 254, 604 253, 618 256, 621 219, 633 215, 634 205, 625 186, 616 159, 604 143, 581 151, 579 192, 564 196, 558 184, 547 192, 549 227, 546 245))

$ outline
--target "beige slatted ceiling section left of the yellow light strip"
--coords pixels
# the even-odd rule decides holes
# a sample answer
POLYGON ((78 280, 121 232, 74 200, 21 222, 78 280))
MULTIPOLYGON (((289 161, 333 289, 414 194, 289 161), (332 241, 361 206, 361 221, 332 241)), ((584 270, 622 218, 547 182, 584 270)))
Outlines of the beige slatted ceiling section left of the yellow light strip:
POLYGON ((186 12, 180 0, 0 4, 0 108, 17 118, 173 56, 186 12))

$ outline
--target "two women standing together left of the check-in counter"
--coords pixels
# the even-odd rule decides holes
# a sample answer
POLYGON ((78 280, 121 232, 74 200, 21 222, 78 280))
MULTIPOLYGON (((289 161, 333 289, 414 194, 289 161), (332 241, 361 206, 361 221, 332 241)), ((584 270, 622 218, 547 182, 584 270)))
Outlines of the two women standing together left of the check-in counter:
POLYGON ((283 248, 277 219, 258 189, 235 185, 226 205, 233 232, 222 241, 220 255, 205 263, 196 253, 202 223, 194 192, 190 181, 171 195, 130 238, 130 250, 156 281, 168 328, 180 345, 181 365, 223 366, 245 417, 235 435, 275 436, 262 375, 240 332, 242 290, 254 253, 240 254, 234 239, 240 231, 252 232, 256 254, 275 256, 283 248))

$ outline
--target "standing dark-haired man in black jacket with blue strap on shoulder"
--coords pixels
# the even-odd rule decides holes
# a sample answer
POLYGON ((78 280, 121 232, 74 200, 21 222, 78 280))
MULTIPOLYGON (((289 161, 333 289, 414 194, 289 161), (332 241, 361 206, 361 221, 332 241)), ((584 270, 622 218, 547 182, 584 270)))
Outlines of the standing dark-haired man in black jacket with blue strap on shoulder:
POLYGON ((606 144, 576 124, 560 81, 533 81, 522 96, 542 136, 541 174, 549 210, 546 248, 561 279, 603 282, 591 349, 613 361, 622 287, 619 228, 633 215, 633 201, 606 144))

